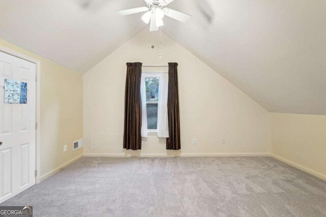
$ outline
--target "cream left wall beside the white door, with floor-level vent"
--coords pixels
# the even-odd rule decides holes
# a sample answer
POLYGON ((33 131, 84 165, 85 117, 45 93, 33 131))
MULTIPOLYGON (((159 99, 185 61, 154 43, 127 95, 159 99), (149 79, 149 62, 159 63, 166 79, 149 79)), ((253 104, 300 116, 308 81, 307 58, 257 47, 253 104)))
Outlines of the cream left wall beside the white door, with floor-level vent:
POLYGON ((83 154, 83 75, 0 39, 0 45, 41 61, 41 179, 83 154), (68 145, 67 152, 63 146, 68 145))

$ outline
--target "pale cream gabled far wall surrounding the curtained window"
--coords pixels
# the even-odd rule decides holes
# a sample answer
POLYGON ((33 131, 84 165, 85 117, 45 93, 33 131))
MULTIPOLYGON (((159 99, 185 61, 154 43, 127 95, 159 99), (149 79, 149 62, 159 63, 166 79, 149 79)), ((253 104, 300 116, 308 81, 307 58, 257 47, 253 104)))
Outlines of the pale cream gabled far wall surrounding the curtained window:
POLYGON ((160 49, 158 38, 159 32, 154 33, 155 49, 148 48, 151 34, 144 29, 84 75, 84 152, 88 156, 269 153, 269 113, 163 33, 160 49), (126 62, 132 61, 179 63, 181 151, 167 152, 165 140, 157 136, 144 139, 141 151, 123 150, 126 62))

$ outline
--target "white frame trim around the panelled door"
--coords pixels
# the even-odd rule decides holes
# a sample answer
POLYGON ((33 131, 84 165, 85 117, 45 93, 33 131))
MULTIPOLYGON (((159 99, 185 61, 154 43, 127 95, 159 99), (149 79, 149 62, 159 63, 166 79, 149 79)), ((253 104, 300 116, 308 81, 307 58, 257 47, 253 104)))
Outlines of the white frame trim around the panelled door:
POLYGON ((31 56, 19 53, 13 49, 0 45, 0 51, 12 56, 30 61, 36 64, 36 120, 37 128, 35 130, 35 156, 36 156, 36 183, 40 183, 40 165, 41 165, 41 61, 31 56))

